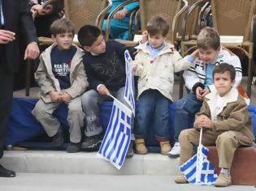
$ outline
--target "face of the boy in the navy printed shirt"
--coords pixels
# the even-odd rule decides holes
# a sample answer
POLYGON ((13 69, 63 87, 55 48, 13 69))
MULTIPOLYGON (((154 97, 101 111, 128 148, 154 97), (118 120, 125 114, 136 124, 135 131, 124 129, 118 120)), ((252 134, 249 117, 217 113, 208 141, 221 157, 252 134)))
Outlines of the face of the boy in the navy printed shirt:
POLYGON ((60 50, 69 49, 72 45, 74 35, 72 32, 66 32, 57 34, 56 36, 52 35, 52 39, 56 42, 60 50))

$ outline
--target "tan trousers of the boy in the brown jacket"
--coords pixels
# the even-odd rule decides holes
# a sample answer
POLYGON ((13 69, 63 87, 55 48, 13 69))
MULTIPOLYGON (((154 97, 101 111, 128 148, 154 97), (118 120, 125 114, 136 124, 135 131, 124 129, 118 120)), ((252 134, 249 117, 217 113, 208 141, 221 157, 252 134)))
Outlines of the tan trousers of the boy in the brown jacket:
MULTIPOLYGON (((237 132, 238 133, 238 132, 237 132)), ((181 146, 180 151, 180 165, 189 160, 194 154, 194 145, 199 144, 200 130, 184 129, 180 133, 179 142, 181 146)), ((202 132, 202 145, 213 146, 216 145, 219 155, 219 168, 231 168, 232 159, 236 148, 238 146, 251 146, 253 142, 249 138, 240 136, 238 140, 234 131, 213 131, 210 129, 202 132)))

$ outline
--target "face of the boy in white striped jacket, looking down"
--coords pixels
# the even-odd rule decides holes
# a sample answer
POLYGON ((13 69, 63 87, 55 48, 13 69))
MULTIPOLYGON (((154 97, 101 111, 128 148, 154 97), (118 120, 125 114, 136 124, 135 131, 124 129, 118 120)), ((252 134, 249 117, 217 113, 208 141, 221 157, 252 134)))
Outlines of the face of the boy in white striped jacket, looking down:
POLYGON ((202 60, 202 62, 205 62, 206 64, 214 62, 218 57, 219 50, 220 47, 217 50, 212 48, 199 49, 199 58, 202 60))

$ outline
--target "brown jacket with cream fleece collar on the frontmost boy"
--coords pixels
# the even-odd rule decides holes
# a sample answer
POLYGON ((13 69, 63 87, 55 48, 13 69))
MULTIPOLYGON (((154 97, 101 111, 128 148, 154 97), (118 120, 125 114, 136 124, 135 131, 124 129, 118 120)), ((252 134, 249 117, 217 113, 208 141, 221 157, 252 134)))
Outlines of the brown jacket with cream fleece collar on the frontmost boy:
POLYGON ((247 104, 241 97, 236 88, 232 88, 227 94, 227 100, 223 103, 223 107, 216 112, 217 91, 212 91, 206 95, 203 101, 201 111, 197 114, 204 114, 213 121, 212 130, 229 131, 232 130, 236 134, 236 138, 249 142, 254 142, 254 134, 252 128, 252 119, 247 110, 247 104), (215 113, 215 114, 214 114, 215 113), (212 117, 212 116, 216 117, 212 117))

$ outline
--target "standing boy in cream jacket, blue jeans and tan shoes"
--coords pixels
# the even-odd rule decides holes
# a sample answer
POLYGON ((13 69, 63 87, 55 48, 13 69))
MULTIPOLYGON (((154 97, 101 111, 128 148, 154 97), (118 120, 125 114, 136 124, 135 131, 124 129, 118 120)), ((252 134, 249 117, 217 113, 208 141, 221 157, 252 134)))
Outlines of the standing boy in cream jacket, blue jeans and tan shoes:
POLYGON ((139 76, 134 129, 136 152, 141 155, 147 153, 145 137, 148 127, 154 122, 161 154, 167 155, 171 150, 168 108, 172 101, 173 75, 189 69, 192 63, 187 57, 182 59, 174 45, 166 41, 169 32, 166 20, 156 16, 147 23, 146 30, 148 41, 136 47, 138 53, 133 62, 133 71, 139 76))

